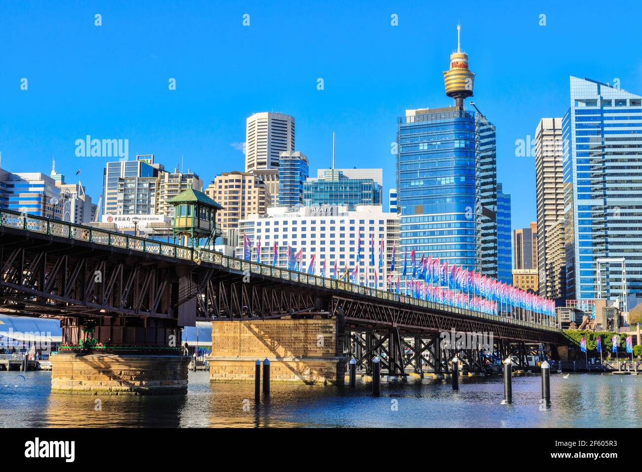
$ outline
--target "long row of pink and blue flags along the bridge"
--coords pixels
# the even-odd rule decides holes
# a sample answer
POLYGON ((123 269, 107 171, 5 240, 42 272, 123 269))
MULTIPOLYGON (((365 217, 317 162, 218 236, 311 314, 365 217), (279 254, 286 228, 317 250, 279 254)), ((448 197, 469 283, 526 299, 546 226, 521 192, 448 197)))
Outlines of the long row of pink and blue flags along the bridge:
MULTIPOLYGON (((246 234, 243 235, 243 258, 249 261, 251 258, 251 243, 246 234)), ((394 272, 395 268, 395 244, 392 245, 392 259, 390 262, 390 272, 394 272)), ((375 250, 374 250, 374 236, 370 237, 370 267, 374 268, 374 278, 378 280, 377 266, 375 265, 375 250)), ((272 266, 276 266, 277 259, 279 258, 279 250, 276 241, 273 243, 272 266)), ((379 243, 379 261, 378 268, 383 270, 385 258, 385 247, 383 240, 379 243)), ((298 251, 288 245, 288 270, 297 272, 306 271, 308 274, 315 274, 315 254, 312 255, 307 270, 302 265, 303 252, 302 249, 298 251)), ((257 238, 256 246, 256 261, 261 263, 261 236, 257 238)), ((351 283, 359 284, 359 263, 361 261, 361 235, 357 239, 357 254, 356 265, 351 272, 348 273, 347 267, 345 268, 345 275, 349 276, 351 283)), ((448 304, 462 308, 471 307, 471 310, 479 310, 488 313, 496 313, 502 310, 504 305, 516 308, 523 308, 524 310, 532 311, 542 315, 554 316, 555 315, 555 302, 552 300, 544 299, 528 293, 524 290, 516 288, 510 284, 500 282, 492 277, 487 277, 473 270, 468 270, 458 265, 449 264, 448 261, 440 261, 440 258, 433 258, 432 256, 421 256, 421 260, 417 263, 417 255, 413 249, 410 252, 410 263, 412 267, 412 280, 408 280, 408 250, 404 253, 403 277, 406 280, 406 295, 412 295, 415 298, 437 301, 447 300, 448 304), (439 289, 439 290, 437 290, 439 289), (438 293, 437 293, 438 292, 438 293), (451 295, 452 294, 452 295, 451 295), (456 295, 456 296, 455 296, 456 295)), ((323 267, 321 268, 321 275, 325 277, 327 274, 327 261, 324 260, 323 267)), ((331 277, 338 279, 336 261, 334 261, 333 273, 331 277)), ((343 278, 343 277, 341 277, 343 278)), ((399 293, 399 276, 394 281, 391 276, 388 276, 388 284, 392 290, 399 293)))

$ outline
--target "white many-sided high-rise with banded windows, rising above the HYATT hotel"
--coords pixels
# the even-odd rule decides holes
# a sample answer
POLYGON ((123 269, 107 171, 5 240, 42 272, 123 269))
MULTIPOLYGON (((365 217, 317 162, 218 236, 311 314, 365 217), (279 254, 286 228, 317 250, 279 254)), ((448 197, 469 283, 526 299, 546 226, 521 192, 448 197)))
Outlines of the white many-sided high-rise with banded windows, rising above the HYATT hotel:
POLYGON ((245 132, 245 171, 279 168, 282 152, 294 152, 294 117, 273 112, 250 116, 245 132))

